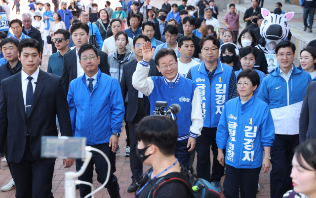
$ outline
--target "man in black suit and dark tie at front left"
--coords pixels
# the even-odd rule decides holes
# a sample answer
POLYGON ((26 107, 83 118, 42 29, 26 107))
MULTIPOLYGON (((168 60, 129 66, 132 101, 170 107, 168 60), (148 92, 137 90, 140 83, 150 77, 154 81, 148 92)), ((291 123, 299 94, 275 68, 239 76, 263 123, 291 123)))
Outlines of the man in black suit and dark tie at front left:
MULTIPOLYGON (((38 67, 40 44, 25 38, 19 44, 22 70, 1 81, 0 148, 7 138, 8 161, 17 198, 52 198, 56 159, 40 158, 42 136, 73 136, 66 94, 59 76, 38 67)), ((70 167, 74 160, 64 160, 70 167)))

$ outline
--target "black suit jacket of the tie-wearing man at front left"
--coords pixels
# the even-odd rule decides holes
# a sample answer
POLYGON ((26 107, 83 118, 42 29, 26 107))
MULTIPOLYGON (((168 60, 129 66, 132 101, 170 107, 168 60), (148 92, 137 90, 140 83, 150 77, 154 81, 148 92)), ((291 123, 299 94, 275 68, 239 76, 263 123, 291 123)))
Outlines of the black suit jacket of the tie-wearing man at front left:
POLYGON ((40 70, 29 119, 26 119, 25 114, 20 71, 1 81, 0 148, 3 148, 7 138, 9 162, 21 161, 27 140, 27 128, 32 155, 35 160, 41 160, 41 137, 58 136, 56 114, 61 135, 73 136, 68 102, 59 76, 40 70))

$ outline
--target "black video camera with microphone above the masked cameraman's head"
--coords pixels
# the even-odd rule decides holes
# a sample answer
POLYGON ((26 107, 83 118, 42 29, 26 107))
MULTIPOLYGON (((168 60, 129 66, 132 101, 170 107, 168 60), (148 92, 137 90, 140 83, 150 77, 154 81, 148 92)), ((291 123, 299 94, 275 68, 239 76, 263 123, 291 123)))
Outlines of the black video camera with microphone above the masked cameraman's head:
POLYGON ((177 120, 176 114, 179 113, 180 110, 181 110, 181 107, 179 104, 171 104, 168 107, 168 102, 157 101, 156 102, 156 110, 153 112, 152 115, 167 116, 167 117, 171 118, 172 120, 176 121, 177 120), (174 116, 175 116, 175 118, 174 118, 174 116))

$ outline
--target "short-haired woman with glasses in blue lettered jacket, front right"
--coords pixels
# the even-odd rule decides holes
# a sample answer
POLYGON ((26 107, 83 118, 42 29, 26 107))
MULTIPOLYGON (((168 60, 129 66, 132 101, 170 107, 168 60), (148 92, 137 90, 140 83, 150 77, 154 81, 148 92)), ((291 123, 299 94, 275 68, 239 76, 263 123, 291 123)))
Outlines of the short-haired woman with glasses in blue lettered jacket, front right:
POLYGON ((237 81, 240 96, 225 104, 217 127, 217 159, 223 166, 225 159, 225 198, 239 197, 239 186, 240 198, 255 198, 261 166, 264 173, 270 167, 275 127, 268 104, 253 96, 260 84, 258 73, 243 70, 237 81))

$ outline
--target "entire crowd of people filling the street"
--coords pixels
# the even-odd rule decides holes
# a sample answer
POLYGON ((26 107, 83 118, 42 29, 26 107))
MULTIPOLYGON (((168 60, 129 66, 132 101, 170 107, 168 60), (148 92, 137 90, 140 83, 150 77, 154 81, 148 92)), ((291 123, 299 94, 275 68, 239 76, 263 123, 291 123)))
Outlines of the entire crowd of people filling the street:
MULTIPOLYGON (((31 2, 22 20, 8 18, 10 31, 0 32, 0 150, 12 174, 1 191, 52 197, 55 159, 42 159, 40 145, 42 136, 60 133, 86 137, 108 156, 105 188, 120 198, 114 172, 124 122, 127 192, 136 198, 153 196, 168 174, 188 180, 196 154, 197 177, 218 193, 226 175, 226 198, 255 198, 259 174, 271 165, 271 198, 316 198, 316 40, 301 50, 298 66, 290 34, 274 46, 278 65, 267 61, 255 47, 264 20, 257 0, 240 33, 233 3, 222 29, 214 0, 164 0, 160 9, 150 0, 118 0, 112 8, 106 1, 102 9, 93 0, 53 3, 54 11, 47 1, 31 2), (42 56, 49 56, 47 72, 42 56), (150 116, 156 101, 179 104, 176 121, 150 116), (145 176, 143 163, 153 166, 145 176)), ((104 183, 107 163, 92 153, 79 180, 92 183, 95 165, 104 183)), ((82 164, 76 159, 77 170, 82 164)), ((78 188, 81 198, 91 192, 78 188)), ((189 195, 177 182, 161 188, 156 197, 189 195)))

